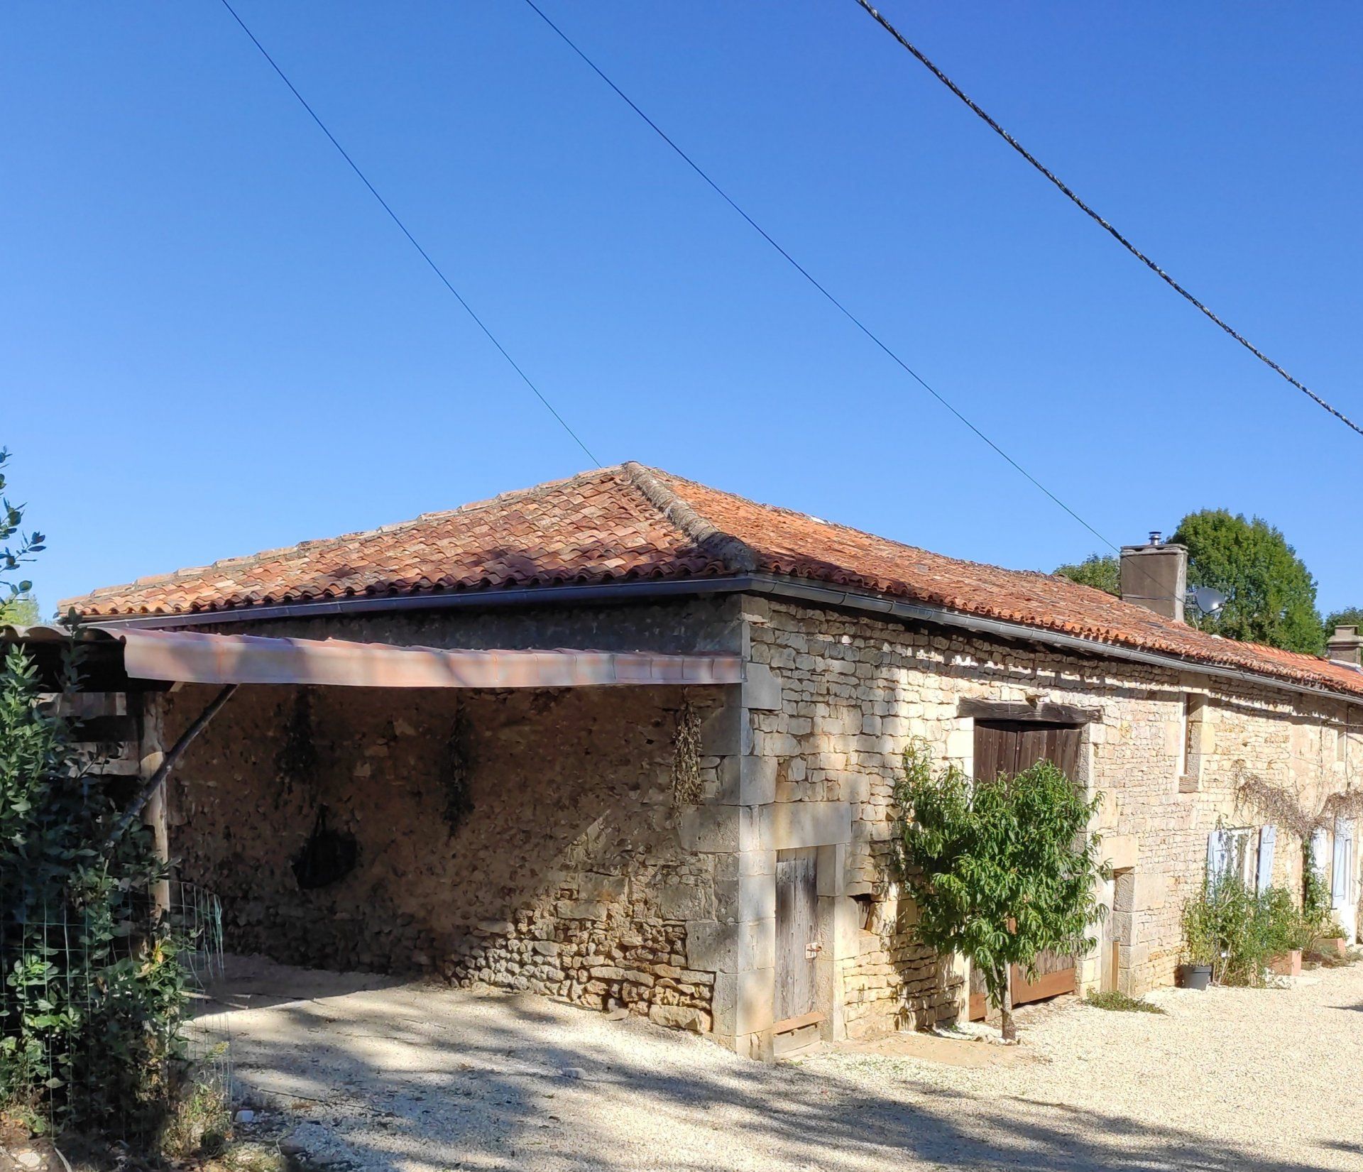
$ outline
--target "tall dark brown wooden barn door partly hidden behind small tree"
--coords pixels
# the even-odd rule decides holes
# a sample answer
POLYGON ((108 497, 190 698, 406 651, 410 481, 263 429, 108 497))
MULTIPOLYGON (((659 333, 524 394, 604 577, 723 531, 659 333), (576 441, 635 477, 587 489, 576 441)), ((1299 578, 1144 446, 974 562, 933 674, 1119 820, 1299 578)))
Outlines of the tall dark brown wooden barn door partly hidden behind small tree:
MULTIPOLYGON (((975 722, 975 777, 988 781, 1000 773, 1021 773, 1039 760, 1048 760, 1067 777, 1074 777, 1079 763, 1079 729, 1074 725, 1033 724, 1029 721, 975 722)), ((1013 966, 1013 1004, 1039 1002, 1059 993, 1073 993, 1074 957, 1041 953, 1036 958, 1036 980, 1013 966)), ((970 973, 970 1018, 985 1015, 984 977, 970 973)))

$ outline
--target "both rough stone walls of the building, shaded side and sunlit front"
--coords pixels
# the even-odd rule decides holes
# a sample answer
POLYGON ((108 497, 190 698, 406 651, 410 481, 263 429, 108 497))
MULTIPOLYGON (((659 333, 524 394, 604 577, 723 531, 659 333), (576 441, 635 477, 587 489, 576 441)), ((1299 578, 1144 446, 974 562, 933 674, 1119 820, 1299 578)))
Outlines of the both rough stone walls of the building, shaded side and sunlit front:
MULTIPOLYGON (((1097 829, 1123 872, 1104 898, 1119 886, 1112 939, 1130 992, 1172 980, 1208 834, 1273 820, 1239 800, 1246 778, 1315 809, 1355 784, 1363 762, 1363 739, 1343 725, 1348 706, 1329 698, 755 596, 224 630, 743 654, 746 683, 687 694, 701 717, 695 804, 673 795, 677 690, 316 690, 318 777, 290 789, 278 759, 296 694, 243 688, 177 770, 172 844, 183 878, 224 897, 234 947, 620 1006, 752 1056, 774 1045, 785 850, 818 853, 810 943, 825 1037, 957 1014, 966 974, 913 943, 913 906, 898 898, 889 850, 909 739, 938 760, 973 765, 961 700, 1093 711, 1078 780, 1104 795, 1097 829), (459 711, 473 812, 451 833, 440 762, 459 711), (357 837, 360 865, 300 891, 289 860, 319 803, 357 837)), ((166 698, 169 737, 209 695, 166 698)), ((1300 842, 1283 827, 1274 876, 1300 883, 1300 842)), ((1099 978, 1096 957, 1079 978, 1099 978)))

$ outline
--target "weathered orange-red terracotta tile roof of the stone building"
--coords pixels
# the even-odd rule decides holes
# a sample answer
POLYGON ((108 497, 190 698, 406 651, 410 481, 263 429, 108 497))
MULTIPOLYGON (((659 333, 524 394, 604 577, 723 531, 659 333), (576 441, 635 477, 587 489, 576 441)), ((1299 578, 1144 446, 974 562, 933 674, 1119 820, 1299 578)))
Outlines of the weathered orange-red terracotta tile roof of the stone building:
POLYGON ((140 578, 67 600, 61 609, 91 619, 210 615, 754 570, 1363 695, 1363 673, 1314 656, 1221 639, 1066 578, 943 557, 635 463, 368 533, 140 578))

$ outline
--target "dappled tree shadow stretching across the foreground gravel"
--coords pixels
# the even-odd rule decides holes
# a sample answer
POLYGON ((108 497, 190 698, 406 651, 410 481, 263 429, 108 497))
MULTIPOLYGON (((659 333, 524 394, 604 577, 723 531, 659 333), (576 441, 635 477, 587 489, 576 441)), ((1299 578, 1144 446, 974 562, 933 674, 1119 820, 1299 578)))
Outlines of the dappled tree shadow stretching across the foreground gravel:
POLYGON ((237 1030, 241 1082, 293 1102, 308 1120, 300 1135, 323 1147, 313 1158, 334 1169, 1321 1167, 1304 1153, 1265 1160, 1172 1127, 1045 1102, 1044 1083, 1036 1100, 984 1101, 905 1081, 897 1086, 913 1093, 909 1105, 797 1066, 717 1066, 709 1044, 688 1036, 662 1066, 656 1049, 646 1056, 647 1034, 630 1045, 631 1030, 652 1029, 642 1022, 613 1026, 626 1032, 623 1044, 616 1036, 609 1047, 567 1047, 553 1034, 570 1030, 566 1015, 578 1011, 533 996, 497 996, 442 1019, 423 1010, 420 988, 395 992, 281 1004, 237 1030), (622 1108, 632 1112, 627 1122, 622 1108))

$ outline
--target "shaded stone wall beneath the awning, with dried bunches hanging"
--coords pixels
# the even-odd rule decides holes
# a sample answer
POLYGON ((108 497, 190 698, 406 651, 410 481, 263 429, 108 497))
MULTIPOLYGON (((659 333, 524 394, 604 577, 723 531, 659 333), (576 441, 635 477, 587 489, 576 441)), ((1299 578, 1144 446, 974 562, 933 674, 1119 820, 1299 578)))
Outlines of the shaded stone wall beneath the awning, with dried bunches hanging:
MULTIPOLYGON (((703 715, 717 694, 687 699, 703 715)), ((169 740, 211 695, 165 698, 169 740)), ((687 921, 713 916, 714 861, 677 837, 680 690, 315 688, 315 775, 289 780, 281 752, 297 696, 241 688, 173 775, 179 878, 222 898, 229 947, 709 1029, 714 974, 687 968, 687 921), (457 718, 472 811, 451 829, 442 762, 457 718), (356 837, 358 863, 304 891, 290 860, 323 804, 328 826, 356 837)), ((713 789, 717 762, 699 766, 713 789)))

